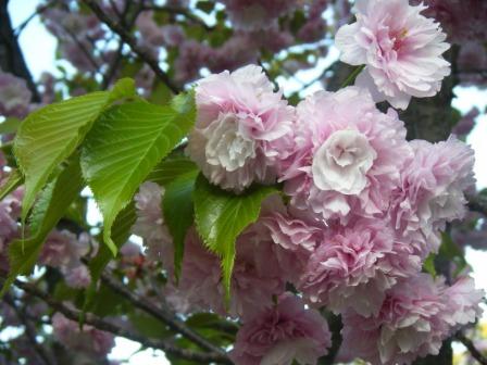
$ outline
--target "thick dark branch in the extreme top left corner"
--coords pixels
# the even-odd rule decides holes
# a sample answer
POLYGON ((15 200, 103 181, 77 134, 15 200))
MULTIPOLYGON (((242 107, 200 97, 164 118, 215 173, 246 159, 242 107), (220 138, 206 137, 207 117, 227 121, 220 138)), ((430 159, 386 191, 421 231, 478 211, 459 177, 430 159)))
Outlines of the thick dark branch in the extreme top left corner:
POLYGON ((0 67, 8 73, 23 78, 33 95, 34 102, 40 102, 39 91, 25 63, 24 54, 10 21, 9 0, 0 0, 0 67))

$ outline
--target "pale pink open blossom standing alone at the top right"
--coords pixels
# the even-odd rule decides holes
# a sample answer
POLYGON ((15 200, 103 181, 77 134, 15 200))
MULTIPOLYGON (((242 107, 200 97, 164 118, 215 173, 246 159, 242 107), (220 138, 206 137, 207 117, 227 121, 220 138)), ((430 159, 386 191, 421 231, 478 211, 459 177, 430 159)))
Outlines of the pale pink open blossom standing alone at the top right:
POLYGON ((448 50, 439 24, 421 14, 424 5, 408 0, 358 0, 357 22, 336 35, 340 60, 366 65, 355 85, 369 88, 376 102, 408 108, 411 97, 435 96, 450 74, 441 56, 448 50))

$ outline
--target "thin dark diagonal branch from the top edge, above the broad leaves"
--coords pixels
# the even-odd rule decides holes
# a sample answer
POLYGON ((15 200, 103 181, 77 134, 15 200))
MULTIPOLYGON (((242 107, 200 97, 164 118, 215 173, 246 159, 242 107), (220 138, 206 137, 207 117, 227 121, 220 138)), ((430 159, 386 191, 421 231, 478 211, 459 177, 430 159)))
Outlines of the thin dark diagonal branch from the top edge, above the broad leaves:
POLYGON ((100 22, 104 23, 113 33, 117 34, 120 38, 130 47, 133 52, 150 66, 155 76, 159 77, 171 89, 171 91, 173 91, 174 93, 178 93, 180 91, 179 87, 177 87, 171 80, 168 75, 159 66, 158 60, 155 60, 149 52, 139 47, 137 45, 137 39, 134 38, 127 30, 125 30, 125 28, 121 24, 112 21, 110 16, 108 16, 97 3, 97 0, 83 0, 83 2, 91 9, 91 11, 95 13, 95 15, 97 15, 100 22))

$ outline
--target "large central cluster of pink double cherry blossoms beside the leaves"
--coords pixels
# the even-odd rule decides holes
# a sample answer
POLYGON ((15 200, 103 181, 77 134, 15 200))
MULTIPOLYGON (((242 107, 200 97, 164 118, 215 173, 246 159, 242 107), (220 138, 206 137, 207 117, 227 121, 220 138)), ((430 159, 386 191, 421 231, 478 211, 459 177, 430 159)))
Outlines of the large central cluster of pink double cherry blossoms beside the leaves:
MULTIPOLYGON (((183 313, 242 320, 236 364, 315 364, 329 347, 316 309, 342 314, 346 338, 366 335, 357 335, 357 324, 370 331, 366 348, 347 340, 341 355, 377 364, 436 353, 475 320, 483 292, 472 279, 448 287, 421 274, 446 224, 465 214, 471 148, 454 137, 408 141, 397 112, 380 112, 357 86, 290 106, 258 66, 202 79, 196 102, 187 152, 202 174, 237 194, 252 184, 282 182, 289 198, 264 200, 258 222, 238 237, 228 306, 220 259, 195 227, 179 281, 166 287, 167 301, 183 313), (288 285, 300 295, 287 293, 288 285)), ((134 231, 173 273, 163 193, 152 182, 141 187, 134 231)))

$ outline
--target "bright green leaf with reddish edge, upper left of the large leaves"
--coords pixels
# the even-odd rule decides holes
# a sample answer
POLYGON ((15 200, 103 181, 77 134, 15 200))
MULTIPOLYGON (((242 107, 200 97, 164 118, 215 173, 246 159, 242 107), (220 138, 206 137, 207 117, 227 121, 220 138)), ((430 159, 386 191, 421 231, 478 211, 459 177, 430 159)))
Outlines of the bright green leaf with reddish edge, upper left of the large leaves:
POLYGON ((25 176, 23 221, 54 168, 74 152, 100 113, 117 98, 134 92, 134 81, 124 79, 112 92, 88 93, 47 105, 27 116, 14 141, 14 153, 25 176))

